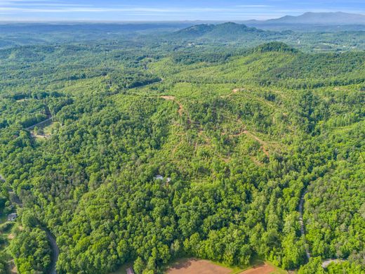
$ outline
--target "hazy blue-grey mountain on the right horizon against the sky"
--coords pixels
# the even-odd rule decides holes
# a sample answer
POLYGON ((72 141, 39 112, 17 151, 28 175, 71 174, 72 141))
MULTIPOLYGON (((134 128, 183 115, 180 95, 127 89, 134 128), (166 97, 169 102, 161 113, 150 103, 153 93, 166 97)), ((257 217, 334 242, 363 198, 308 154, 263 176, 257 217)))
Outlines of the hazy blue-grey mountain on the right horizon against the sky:
POLYGON ((365 15, 354 13, 304 13, 299 16, 286 15, 277 19, 265 21, 249 20, 245 21, 248 25, 365 25, 365 15))

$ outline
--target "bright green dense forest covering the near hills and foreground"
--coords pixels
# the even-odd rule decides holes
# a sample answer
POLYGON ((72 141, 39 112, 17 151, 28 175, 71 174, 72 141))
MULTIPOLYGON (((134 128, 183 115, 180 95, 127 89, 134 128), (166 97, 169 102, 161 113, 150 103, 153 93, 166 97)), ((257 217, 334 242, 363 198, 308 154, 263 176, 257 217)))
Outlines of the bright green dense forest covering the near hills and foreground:
POLYGON ((0 263, 46 273, 50 232, 58 273, 365 273, 365 53, 215 46, 0 50, 0 263))

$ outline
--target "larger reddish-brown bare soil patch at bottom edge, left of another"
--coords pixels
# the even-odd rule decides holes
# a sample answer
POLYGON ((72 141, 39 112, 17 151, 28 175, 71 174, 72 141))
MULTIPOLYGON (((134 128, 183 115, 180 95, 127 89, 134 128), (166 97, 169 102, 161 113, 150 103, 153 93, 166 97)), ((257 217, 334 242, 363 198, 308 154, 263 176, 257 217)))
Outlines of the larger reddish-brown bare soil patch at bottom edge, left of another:
POLYGON ((232 270, 217 266, 211 261, 188 259, 175 263, 167 270, 168 274, 229 274, 232 270))

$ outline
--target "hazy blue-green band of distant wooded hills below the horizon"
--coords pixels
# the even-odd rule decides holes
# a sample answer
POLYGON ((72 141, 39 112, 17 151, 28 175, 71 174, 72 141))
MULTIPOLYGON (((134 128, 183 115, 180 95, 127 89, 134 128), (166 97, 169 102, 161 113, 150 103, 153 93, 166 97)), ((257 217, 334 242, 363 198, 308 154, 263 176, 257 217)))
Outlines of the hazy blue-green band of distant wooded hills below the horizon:
MULTIPOLYGON (((266 25, 247 22, 131 22, 131 23, 4 23, 0 22, 0 48, 19 46, 55 46, 67 44, 120 48, 191 48, 215 46, 253 48, 270 41, 281 41, 300 51, 347 52, 365 50, 364 25, 266 25), (275 27, 276 26, 276 27, 275 27), (260 28, 269 30, 261 30, 260 28), (134 45, 134 47, 133 47, 134 45)), ((145 48, 145 49, 146 49, 145 48)))

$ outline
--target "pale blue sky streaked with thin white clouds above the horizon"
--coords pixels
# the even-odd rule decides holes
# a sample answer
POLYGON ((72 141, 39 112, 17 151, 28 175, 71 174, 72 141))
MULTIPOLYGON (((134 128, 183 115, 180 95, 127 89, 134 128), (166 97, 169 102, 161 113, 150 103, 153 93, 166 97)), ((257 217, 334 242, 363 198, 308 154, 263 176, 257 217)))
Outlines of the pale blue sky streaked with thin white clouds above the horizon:
POLYGON ((0 0, 0 20, 249 20, 306 11, 365 14, 365 0, 0 0))

